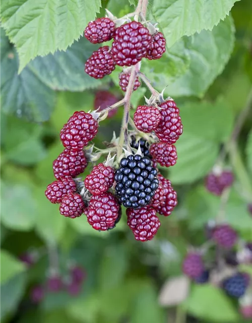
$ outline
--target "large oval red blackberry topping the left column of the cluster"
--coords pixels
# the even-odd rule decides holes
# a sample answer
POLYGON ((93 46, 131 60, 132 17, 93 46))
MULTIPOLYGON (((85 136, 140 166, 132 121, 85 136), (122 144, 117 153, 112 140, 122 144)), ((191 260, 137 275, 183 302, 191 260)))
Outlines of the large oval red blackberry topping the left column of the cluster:
POLYGON ((73 151, 82 150, 98 132, 98 122, 84 111, 76 111, 60 131, 62 144, 73 151))

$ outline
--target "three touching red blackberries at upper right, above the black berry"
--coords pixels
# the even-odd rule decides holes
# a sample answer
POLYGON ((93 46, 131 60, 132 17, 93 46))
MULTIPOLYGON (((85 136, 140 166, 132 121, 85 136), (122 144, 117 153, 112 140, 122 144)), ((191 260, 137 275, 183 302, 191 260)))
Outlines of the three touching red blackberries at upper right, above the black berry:
POLYGON ((177 151, 174 143, 183 132, 179 109, 172 99, 154 105, 140 105, 134 114, 134 123, 139 131, 155 132, 160 142, 150 146, 150 155, 161 166, 176 164, 177 151))

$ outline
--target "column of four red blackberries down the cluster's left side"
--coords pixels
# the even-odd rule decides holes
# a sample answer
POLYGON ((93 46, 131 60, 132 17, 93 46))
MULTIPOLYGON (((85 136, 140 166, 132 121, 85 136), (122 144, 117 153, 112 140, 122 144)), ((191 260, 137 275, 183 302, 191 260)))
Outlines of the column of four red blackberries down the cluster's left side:
POLYGON ((97 132, 97 120, 84 111, 75 112, 60 131, 60 139, 66 149, 53 161, 52 168, 57 181, 47 186, 45 195, 50 202, 60 204, 60 214, 65 217, 80 217, 86 208, 74 178, 87 167, 83 148, 97 132))

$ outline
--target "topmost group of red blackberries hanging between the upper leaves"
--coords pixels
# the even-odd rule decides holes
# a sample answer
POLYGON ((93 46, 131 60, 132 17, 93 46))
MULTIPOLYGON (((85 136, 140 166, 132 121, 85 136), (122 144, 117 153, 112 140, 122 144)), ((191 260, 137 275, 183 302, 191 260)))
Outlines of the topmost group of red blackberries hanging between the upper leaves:
MULTIPOLYGON (((86 62, 85 72, 96 79, 109 75, 115 65, 132 66, 143 58, 157 60, 165 52, 164 35, 158 31, 151 35, 148 28, 137 21, 116 27, 111 19, 98 18, 88 24, 84 35, 93 44, 113 39, 111 48, 100 47, 86 62)), ((119 85, 123 91, 127 89, 129 78, 129 72, 123 72, 119 76, 119 85)), ((134 90, 139 86, 139 79, 136 78, 134 90)))

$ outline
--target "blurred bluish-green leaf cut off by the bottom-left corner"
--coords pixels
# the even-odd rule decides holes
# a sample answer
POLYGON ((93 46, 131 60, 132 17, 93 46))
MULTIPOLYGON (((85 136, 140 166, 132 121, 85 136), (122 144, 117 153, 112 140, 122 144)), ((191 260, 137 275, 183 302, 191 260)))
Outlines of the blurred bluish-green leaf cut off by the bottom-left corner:
POLYGON ((18 274, 11 278, 8 282, 1 285, 1 311, 0 319, 4 321, 4 317, 10 313, 14 313, 19 301, 21 300, 26 284, 26 275, 24 273, 18 274))

